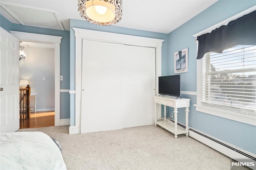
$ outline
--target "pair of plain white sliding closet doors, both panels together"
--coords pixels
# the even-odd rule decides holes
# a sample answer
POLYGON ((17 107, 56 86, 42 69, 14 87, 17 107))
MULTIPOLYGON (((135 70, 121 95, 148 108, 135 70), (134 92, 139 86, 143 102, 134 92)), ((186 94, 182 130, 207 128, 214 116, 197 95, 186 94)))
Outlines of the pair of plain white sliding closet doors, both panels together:
POLYGON ((81 133, 154 124, 155 49, 83 40, 81 133))

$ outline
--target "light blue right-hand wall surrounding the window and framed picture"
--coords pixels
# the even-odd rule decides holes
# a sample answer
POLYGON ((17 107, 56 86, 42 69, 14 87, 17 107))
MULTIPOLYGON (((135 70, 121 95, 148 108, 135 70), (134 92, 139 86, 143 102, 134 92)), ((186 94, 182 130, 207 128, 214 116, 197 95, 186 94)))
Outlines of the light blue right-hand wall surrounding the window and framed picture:
MULTIPOLYGON (((168 75, 174 75, 174 52, 188 47, 188 72, 181 75, 181 90, 196 91, 196 43, 194 34, 256 5, 255 0, 220 0, 168 34, 168 75)), ((196 96, 191 99, 189 126, 256 154, 256 127, 196 111, 196 96)), ((172 111, 172 110, 171 110, 172 111)), ((181 114, 178 121, 185 123, 181 114)))

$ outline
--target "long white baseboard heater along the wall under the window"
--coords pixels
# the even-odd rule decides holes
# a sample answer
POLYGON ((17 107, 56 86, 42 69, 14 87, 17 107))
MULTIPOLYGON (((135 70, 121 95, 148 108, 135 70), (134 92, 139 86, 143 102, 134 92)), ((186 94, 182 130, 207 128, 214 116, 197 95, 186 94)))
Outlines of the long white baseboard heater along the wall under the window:
MULTIPOLYGON (((169 121, 169 120, 168 120, 169 121)), ((170 119, 171 122, 174 123, 174 120, 170 119)), ((186 128, 185 125, 177 123, 182 128, 186 128)), ((228 144, 225 144, 224 142, 217 140, 210 135, 203 134, 202 132, 199 132, 199 130, 195 130, 193 128, 189 128, 189 136, 202 142, 203 144, 206 144, 207 146, 217 150, 218 152, 221 152, 222 154, 237 160, 237 159, 250 159, 252 162, 256 163, 256 156, 252 153, 246 153, 245 151, 242 151, 243 149, 235 148, 233 146, 230 146, 228 144)))

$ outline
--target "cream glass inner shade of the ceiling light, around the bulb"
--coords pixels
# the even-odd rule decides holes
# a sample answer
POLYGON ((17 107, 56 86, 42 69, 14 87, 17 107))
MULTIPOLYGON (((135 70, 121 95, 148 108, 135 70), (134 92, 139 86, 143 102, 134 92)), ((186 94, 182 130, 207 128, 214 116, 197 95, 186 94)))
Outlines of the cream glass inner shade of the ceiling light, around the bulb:
POLYGON ((94 21, 97 22, 110 22, 115 18, 115 6, 114 4, 101 1, 101 0, 91 0, 87 1, 85 5, 86 15, 94 21), (96 6, 101 6, 106 8, 104 14, 99 14, 96 10, 96 6))

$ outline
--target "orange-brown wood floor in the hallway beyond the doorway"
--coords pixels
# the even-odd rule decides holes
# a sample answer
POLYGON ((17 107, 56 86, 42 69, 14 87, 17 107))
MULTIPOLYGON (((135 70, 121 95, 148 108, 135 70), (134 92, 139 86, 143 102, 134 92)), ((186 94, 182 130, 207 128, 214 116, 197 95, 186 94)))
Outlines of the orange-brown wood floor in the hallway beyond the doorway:
POLYGON ((54 126, 54 111, 46 112, 31 112, 31 117, 28 120, 20 123, 20 128, 38 128, 54 126))

